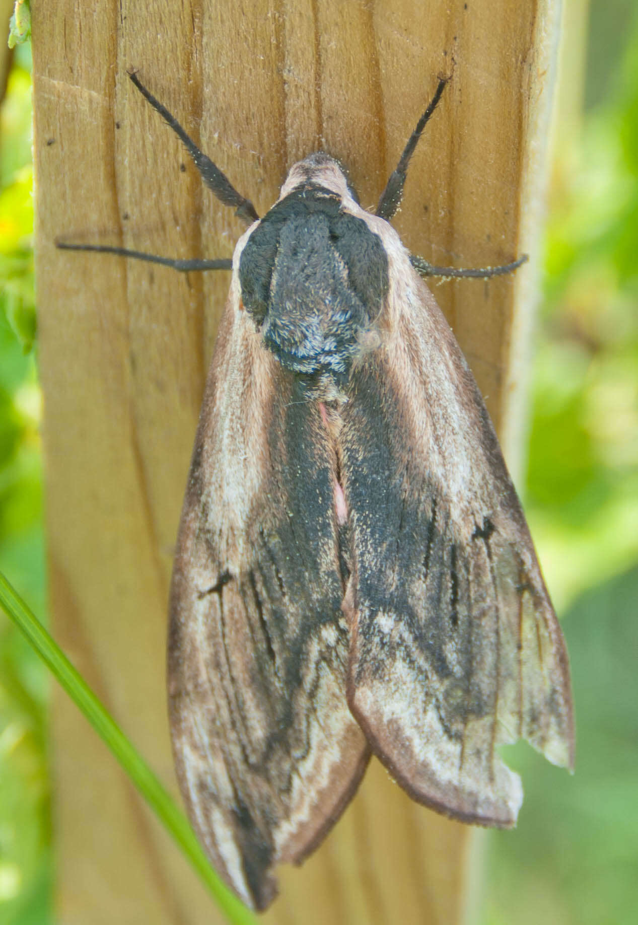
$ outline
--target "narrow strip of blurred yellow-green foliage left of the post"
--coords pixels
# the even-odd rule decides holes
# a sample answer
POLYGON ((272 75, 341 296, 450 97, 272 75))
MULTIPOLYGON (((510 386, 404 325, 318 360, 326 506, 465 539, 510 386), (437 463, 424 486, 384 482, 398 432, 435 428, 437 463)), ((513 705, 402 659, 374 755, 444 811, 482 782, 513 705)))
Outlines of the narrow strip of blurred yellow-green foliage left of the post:
MULTIPOLYGON (((0 112, 0 569, 44 612, 40 391, 31 234, 31 60, 14 56, 0 112)), ((0 923, 50 920, 47 678, 0 614, 0 923)))

